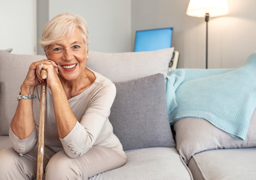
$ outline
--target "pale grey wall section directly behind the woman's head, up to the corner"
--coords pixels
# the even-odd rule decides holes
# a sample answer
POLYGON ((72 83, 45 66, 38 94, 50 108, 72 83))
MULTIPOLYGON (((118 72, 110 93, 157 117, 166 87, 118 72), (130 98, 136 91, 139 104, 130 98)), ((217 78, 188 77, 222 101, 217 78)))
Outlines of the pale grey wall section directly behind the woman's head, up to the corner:
POLYGON ((65 12, 77 13, 87 21, 89 50, 130 51, 130 0, 49 0, 49 19, 65 12))

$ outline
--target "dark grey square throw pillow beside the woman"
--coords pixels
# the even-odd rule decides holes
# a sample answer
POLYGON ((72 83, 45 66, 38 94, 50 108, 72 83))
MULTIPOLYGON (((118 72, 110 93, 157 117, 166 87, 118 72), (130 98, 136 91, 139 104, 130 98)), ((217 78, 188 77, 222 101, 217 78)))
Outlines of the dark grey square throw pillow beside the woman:
POLYGON ((163 74, 115 83, 109 120, 124 150, 174 147, 163 74))

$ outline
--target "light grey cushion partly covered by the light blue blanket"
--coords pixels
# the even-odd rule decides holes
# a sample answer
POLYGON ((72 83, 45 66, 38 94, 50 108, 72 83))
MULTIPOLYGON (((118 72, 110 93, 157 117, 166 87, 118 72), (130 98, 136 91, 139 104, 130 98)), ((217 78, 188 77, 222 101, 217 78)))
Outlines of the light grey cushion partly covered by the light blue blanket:
POLYGON ((256 109, 244 141, 235 139, 204 119, 180 119, 175 122, 174 130, 177 149, 186 163, 192 155, 210 149, 256 147, 256 109))

